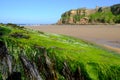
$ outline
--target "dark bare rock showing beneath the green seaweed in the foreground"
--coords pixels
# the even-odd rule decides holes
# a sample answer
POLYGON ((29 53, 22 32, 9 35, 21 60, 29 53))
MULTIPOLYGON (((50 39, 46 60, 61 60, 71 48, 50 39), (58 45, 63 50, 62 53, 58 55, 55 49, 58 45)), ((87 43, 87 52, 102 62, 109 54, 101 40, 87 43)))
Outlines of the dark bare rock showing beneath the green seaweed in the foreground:
MULTIPOLYGON (((43 47, 39 47, 42 55, 36 56, 36 61, 30 60, 27 56, 23 55, 24 51, 18 55, 20 63, 14 63, 14 58, 9 55, 9 51, 5 46, 5 43, 0 41, 0 71, 2 72, 3 80, 22 80, 23 75, 25 80, 59 80, 58 71, 55 68, 56 59, 51 60, 47 55, 47 50, 43 47), (20 66, 21 71, 14 70, 16 66, 20 66)), ((80 67, 72 72, 69 64, 64 61, 62 63, 62 70, 60 75, 65 80, 85 80, 86 75, 83 75, 80 67)))

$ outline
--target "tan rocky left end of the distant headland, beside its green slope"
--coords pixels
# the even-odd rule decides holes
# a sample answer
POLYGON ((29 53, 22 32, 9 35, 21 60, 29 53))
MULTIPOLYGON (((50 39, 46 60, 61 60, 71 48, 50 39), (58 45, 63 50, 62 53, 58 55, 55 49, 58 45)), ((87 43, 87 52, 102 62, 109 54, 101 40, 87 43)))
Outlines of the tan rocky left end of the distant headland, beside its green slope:
POLYGON ((88 15, 95 13, 98 9, 86 9, 80 8, 76 10, 70 10, 62 14, 61 19, 57 24, 88 24, 89 18, 88 15), (76 17, 81 17, 79 20, 76 20, 76 17))

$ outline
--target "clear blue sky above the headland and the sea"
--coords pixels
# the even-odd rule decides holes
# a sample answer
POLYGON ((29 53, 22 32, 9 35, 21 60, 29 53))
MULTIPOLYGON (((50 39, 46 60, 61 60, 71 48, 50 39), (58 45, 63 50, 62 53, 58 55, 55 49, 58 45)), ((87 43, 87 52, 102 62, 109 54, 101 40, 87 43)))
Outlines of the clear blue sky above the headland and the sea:
POLYGON ((120 0, 0 0, 0 23, 54 24, 71 9, 119 3, 120 0))

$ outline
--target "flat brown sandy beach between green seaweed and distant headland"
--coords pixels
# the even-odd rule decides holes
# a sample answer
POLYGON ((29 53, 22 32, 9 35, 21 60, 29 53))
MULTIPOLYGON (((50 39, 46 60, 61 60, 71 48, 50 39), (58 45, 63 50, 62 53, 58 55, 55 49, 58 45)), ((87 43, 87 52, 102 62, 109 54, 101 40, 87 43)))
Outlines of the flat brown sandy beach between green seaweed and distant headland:
POLYGON ((27 28, 73 36, 120 52, 120 25, 40 25, 27 28))

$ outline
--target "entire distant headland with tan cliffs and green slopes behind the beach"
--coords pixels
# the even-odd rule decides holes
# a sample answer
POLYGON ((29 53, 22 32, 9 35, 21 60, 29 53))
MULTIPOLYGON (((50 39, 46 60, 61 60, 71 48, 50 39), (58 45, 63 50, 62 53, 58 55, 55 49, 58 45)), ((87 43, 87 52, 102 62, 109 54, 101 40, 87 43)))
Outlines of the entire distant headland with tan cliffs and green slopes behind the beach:
POLYGON ((74 9, 61 15, 57 24, 119 23, 120 4, 95 9, 74 9), (116 20, 117 19, 117 20, 116 20))

